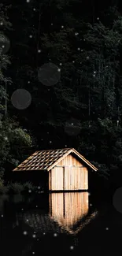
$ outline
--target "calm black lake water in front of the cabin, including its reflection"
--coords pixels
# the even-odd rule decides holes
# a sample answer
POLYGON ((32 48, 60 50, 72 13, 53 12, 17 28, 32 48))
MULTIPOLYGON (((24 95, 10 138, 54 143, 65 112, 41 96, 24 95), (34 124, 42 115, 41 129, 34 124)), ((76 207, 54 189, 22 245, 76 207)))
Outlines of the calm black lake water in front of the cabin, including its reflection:
POLYGON ((121 255, 122 213, 87 192, 0 197, 1 255, 121 255))

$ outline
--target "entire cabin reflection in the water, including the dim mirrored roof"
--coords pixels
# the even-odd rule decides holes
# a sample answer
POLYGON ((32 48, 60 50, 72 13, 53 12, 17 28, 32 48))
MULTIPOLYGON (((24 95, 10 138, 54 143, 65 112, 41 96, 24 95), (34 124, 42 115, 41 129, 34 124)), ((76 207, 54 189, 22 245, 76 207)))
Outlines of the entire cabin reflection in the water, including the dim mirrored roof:
POLYGON ((28 210, 17 213, 17 221, 24 221, 38 234, 68 232, 75 235, 97 214, 96 211, 89 212, 87 192, 50 193, 49 204, 49 213, 28 210))

